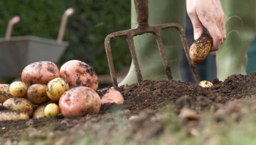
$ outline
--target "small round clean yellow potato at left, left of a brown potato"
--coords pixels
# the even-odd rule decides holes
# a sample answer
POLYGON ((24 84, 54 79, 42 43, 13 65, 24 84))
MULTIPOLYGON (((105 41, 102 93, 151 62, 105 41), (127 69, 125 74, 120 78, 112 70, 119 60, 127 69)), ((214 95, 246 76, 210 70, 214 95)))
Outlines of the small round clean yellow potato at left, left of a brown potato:
POLYGON ((27 90, 27 85, 21 81, 11 82, 9 87, 9 91, 14 97, 25 97, 27 90))

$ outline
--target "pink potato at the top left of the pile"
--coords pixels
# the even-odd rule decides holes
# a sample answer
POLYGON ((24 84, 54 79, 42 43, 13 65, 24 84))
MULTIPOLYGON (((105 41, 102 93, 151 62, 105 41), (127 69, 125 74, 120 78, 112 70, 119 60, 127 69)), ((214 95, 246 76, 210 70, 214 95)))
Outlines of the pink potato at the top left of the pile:
POLYGON ((57 65, 50 61, 39 61, 27 65, 21 73, 21 80, 26 85, 47 84, 50 80, 60 77, 57 65))

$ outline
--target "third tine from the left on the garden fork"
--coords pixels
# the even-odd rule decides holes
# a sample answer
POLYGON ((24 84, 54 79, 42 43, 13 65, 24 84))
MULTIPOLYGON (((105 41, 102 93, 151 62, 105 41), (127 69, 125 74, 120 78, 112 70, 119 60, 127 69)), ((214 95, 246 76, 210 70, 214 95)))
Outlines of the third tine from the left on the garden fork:
POLYGON ((161 38, 161 34, 159 31, 157 31, 156 33, 154 33, 154 36, 156 36, 156 42, 158 44, 158 48, 159 48, 159 52, 162 58, 162 61, 164 63, 164 70, 166 72, 166 76, 169 80, 172 80, 172 76, 171 76, 171 66, 169 65, 168 61, 167 61, 167 57, 166 57, 166 52, 164 50, 164 44, 161 38))

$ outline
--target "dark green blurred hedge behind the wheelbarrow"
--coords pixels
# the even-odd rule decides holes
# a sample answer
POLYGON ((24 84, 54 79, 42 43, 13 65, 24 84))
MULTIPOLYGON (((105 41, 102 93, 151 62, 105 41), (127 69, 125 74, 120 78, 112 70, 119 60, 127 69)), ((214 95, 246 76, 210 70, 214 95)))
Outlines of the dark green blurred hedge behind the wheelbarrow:
MULTIPOLYGON (((98 74, 109 73, 104 40, 107 34, 130 28, 130 1, 124 0, 1 0, 0 36, 13 16, 21 16, 12 36, 38 36, 56 39, 61 16, 73 7, 75 13, 68 19, 64 41, 70 46, 60 59, 78 59, 92 65, 98 74)), ((116 70, 129 65, 131 57, 124 39, 111 43, 116 70)))

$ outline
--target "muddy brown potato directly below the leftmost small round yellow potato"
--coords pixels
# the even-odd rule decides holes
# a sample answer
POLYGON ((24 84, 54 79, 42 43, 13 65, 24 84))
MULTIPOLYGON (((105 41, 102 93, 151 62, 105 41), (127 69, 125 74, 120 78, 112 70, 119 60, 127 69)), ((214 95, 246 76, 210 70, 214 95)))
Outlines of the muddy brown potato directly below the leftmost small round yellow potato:
POLYGON ((16 111, 26 112, 31 116, 34 104, 23 97, 11 97, 3 103, 3 106, 16 111))

